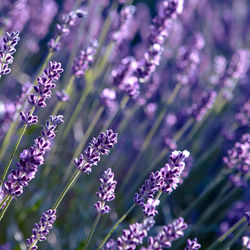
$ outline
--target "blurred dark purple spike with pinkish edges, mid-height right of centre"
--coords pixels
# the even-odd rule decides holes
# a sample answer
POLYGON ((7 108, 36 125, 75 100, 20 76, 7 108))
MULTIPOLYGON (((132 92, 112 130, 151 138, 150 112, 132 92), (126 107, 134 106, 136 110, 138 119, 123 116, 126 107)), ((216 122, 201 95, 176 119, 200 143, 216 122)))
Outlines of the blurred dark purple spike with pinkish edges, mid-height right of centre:
POLYGON ((201 121, 206 112, 212 108, 217 93, 215 91, 203 92, 199 103, 193 103, 189 113, 197 120, 201 121))

